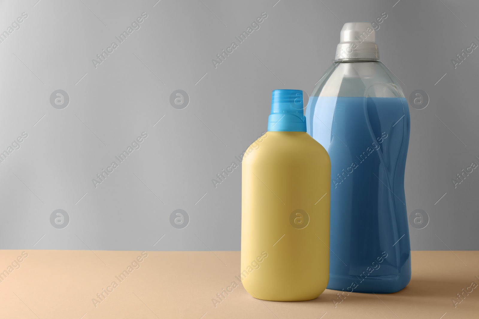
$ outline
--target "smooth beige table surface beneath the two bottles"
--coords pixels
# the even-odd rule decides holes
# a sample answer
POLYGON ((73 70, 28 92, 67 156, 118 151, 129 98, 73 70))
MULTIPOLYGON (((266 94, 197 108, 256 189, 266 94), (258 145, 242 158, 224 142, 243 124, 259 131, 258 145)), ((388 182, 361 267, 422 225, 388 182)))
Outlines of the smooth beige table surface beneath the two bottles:
POLYGON ((146 252, 130 269, 141 252, 30 250, 23 253, 27 257, 22 252, 0 251, 0 272, 6 270, 0 273, 1 319, 479 318, 479 287, 470 288, 472 282, 479 285, 477 251, 412 252, 405 289, 352 293, 336 307, 337 291, 328 289, 303 302, 251 297, 235 277, 239 252, 146 252), (115 276, 124 270, 131 273, 120 281, 115 276), (215 307, 212 299, 233 281, 239 286, 215 307), (456 294, 471 289, 455 307, 451 299, 459 301, 456 294))

